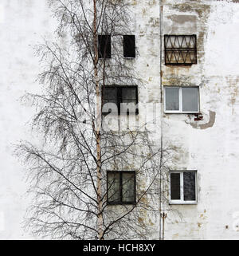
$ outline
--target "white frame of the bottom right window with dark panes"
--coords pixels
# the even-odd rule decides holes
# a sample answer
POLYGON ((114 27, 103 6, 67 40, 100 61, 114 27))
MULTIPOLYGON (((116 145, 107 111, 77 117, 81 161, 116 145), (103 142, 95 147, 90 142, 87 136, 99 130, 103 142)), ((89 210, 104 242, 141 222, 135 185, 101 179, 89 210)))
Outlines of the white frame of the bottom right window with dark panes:
POLYGON ((198 204, 198 170, 177 170, 169 171, 169 175, 171 173, 179 173, 180 174, 180 200, 178 199, 171 199, 171 177, 169 179, 169 204, 198 204), (184 172, 194 172, 195 173, 195 200, 192 201, 185 201, 184 200, 184 190, 183 190, 183 173, 184 172))

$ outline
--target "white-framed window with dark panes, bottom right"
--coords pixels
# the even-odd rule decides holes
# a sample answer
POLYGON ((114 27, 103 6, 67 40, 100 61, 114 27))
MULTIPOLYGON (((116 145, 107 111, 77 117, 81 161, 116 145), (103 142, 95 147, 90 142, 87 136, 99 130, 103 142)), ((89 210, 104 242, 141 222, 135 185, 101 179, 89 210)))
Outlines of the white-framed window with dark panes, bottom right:
POLYGON ((170 171, 170 203, 197 203, 197 171, 170 171))

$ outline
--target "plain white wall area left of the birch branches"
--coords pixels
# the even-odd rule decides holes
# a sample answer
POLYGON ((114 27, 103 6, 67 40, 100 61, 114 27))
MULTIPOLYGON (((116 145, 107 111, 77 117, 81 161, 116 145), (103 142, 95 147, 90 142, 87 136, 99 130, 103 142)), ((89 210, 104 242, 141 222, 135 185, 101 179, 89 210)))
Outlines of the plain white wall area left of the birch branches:
POLYGON ((13 144, 32 140, 26 123, 34 108, 21 103, 26 92, 36 93, 39 59, 34 45, 51 39, 54 20, 46 1, 0 2, 0 239, 31 238, 22 229, 27 184, 25 172, 13 156, 13 144))

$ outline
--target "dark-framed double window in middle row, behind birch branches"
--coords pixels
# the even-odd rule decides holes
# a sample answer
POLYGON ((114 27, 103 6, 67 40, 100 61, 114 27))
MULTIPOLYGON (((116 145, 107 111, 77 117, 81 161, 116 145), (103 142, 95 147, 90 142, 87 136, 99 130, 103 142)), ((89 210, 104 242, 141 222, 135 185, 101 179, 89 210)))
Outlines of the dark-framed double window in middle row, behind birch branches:
POLYGON ((137 86, 104 86, 103 108, 102 113, 108 114, 114 112, 120 113, 139 113, 138 104, 138 88, 137 86))

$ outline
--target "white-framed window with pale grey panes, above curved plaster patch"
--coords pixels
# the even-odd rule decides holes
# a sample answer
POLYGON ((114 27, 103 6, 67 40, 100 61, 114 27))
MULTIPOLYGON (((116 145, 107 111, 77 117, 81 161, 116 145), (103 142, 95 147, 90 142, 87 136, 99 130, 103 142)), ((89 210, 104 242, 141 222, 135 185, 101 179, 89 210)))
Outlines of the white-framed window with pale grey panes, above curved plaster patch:
POLYGON ((198 87, 164 87, 164 112, 167 113, 198 113, 198 87))

